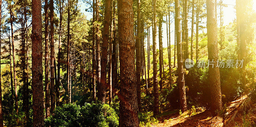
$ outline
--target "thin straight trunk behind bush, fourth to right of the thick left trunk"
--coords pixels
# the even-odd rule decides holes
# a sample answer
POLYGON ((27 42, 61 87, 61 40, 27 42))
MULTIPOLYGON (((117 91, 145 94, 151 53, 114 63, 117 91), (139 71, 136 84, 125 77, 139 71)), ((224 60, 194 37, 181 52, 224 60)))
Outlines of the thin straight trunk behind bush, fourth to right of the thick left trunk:
POLYGON ((67 36, 67 40, 68 40, 68 44, 67 44, 67 103, 71 103, 71 87, 69 86, 69 77, 70 77, 70 73, 69 73, 69 68, 70 68, 70 3, 68 0, 68 36, 67 36))

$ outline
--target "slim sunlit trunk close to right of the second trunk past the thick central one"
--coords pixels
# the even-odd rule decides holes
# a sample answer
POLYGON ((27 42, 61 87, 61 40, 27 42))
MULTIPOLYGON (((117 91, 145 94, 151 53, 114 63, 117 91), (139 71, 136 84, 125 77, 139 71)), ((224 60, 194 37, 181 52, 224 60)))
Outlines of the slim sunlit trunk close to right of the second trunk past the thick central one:
POLYGON ((159 16, 159 26, 158 26, 158 39, 159 39, 159 77, 160 77, 160 91, 163 89, 163 70, 162 70, 162 66, 163 66, 163 59, 162 59, 162 55, 163 55, 163 45, 162 45, 162 20, 163 20, 163 16, 160 14, 159 16))

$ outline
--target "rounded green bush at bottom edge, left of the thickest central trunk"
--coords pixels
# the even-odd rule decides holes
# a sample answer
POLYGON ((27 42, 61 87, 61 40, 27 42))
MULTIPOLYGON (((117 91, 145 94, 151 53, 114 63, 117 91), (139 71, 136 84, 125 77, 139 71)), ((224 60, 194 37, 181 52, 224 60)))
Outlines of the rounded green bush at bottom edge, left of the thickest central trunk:
POLYGON ((65 104, 57 107, 46 126, 52 127, 117 127, 118 116, 108 104, 85 103, 83 107, 65 104))

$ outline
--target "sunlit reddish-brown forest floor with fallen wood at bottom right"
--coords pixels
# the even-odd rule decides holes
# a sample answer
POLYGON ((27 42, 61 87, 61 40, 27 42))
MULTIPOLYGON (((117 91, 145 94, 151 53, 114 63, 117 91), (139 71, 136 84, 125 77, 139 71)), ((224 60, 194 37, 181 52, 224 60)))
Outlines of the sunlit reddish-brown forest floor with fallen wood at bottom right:
MULTIPOLYGON (((246 103, 251 103, 247 96, 243 96, 236 101, 227 104, 225 114, 225 127, 244 126, 244 117, 241 115, 242 108, 246 107, 246 103)), ((249 122, 256 122, 256 117, 250 115, 249 122)), ((204 108, 196 108, 196 112, 188 110, 180 115, 173 113, 169 115, 158 115, 159 123, 151 125, 152 127, 223 127, 223 115, 212 117, 210 110, 204 108)), ((248 116, 247 116, 248 117, 248 116)))

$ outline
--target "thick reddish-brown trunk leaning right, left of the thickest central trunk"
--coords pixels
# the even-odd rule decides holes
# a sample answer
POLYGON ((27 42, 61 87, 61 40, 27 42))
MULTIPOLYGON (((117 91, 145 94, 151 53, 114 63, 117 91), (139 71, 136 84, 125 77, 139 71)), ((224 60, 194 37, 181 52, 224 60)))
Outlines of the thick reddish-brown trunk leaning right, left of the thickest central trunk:
POLYGON ((100 101, 106 103, 106 87, 107 87, 107 63, 108 63, 108 45, 109 45, 109 26, 111 11, 111 0, 105 1, 104 26, 102 31, 101 44, 101 77, 100 77, 100 101))

